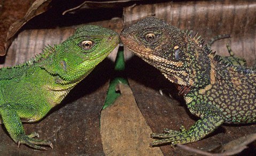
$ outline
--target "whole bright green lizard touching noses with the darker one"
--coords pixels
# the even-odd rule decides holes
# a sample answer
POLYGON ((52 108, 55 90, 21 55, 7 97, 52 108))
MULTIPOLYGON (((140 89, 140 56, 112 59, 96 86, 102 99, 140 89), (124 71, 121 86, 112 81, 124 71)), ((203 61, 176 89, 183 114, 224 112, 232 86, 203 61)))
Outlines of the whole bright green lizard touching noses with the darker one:
POLYGON ((119 35, 84 26, 63 43, 48 46, 31 60, 0 69, 0 114, 11 138, 39 150, 52 143, 26 135, 21 122, 42 119, 119 44, 119 35))

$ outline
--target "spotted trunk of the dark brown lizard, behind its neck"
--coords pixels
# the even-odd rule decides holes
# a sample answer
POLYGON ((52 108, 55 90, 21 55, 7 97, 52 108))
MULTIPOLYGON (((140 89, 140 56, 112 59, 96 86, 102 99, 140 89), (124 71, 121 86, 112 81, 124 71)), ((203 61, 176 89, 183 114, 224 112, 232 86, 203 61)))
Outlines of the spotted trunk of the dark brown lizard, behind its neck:
POLYGON ((250 68, 232 65, 210 55, 210 84, 191 89, 185 100, 211 103, 223 113, 224 122, 256 122, 256 73, 250 68))

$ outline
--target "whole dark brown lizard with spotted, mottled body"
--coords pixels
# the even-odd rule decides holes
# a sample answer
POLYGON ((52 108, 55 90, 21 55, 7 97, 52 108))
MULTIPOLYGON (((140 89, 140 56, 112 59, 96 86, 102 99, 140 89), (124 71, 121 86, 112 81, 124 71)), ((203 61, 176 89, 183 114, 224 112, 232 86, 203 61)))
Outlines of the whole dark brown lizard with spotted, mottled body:
POLYGON ((150 145, 196 142, 226 123, 256 122, 256 72, 212 52, 193 32, 145 18, 123 30, 123 44, 177 85, 189 111, 200 117, 188 130, 164 129, 150 145))

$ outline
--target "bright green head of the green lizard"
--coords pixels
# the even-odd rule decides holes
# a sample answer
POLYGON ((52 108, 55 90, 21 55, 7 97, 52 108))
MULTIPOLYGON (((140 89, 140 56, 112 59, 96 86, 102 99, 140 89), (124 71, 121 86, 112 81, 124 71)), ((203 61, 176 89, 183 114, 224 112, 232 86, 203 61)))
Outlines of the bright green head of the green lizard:
POLYGON ((46 62, 43 68, 65 82, 79 81, 118 44, 117 32, 99 26, 83 26, 73 36, 55 46, 55 52, 48 58, 50 63, 46 62))

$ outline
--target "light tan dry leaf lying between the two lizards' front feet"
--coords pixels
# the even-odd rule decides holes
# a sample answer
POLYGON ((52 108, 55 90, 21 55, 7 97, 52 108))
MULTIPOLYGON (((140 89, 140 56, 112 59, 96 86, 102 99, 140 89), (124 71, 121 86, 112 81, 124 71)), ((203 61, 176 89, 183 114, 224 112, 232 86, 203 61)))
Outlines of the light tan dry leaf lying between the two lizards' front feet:
POLYGON ((151 148, 150 127, 138 109, 128 85, 119 84, 121 95, 102 110, 100 134, 106 155, 162 155, 159 147, 151 148))

